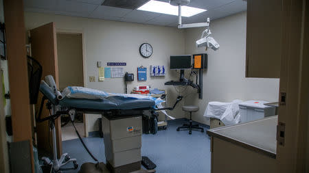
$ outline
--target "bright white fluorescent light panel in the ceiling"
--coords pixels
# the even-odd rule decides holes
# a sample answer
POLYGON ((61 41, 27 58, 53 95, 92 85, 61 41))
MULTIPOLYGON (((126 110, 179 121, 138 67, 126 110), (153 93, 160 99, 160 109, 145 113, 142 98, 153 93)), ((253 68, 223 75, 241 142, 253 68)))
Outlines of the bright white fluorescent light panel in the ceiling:
MULTIPOLYGON (((170 3, 165 3, 162 1, 148 1, 137 10, 143 10, 147 12, 158 12, 163 14, 170 14, 178 16, 178 6, 170 5, 170 3)), ((188 6, 181 6, 181 16, 191 17, 201 12, 206 12, 207 10, 201 8, 192 8, 188 6)))

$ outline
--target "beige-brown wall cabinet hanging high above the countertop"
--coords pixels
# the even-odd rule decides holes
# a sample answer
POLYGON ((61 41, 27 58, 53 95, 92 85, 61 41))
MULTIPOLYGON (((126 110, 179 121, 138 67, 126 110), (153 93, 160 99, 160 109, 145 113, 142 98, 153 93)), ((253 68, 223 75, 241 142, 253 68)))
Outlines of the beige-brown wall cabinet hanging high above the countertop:
POLYGON ((247 1, 246 77, 279 78, 282 0, 247 1))

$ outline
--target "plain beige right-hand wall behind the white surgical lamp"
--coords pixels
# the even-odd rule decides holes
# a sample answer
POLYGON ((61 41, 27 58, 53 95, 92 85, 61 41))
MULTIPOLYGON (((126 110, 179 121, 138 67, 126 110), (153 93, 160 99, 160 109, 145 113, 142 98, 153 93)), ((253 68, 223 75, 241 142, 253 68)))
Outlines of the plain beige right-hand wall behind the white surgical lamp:
POLYGON ((209 119, 203 117, 209 101, 278 100, 279 79, 245 78, 246 20, 246 12, 242 12, 211 21, 212 36, 220 44, 218 51, 196 48, 195 41, 201 38, 203 28, 187 29, 185 53, 208 53, 208 68, 203 72, 203 100, 198 99, 196 92, 185 99, 187 105, 200 107, 193 120, 209 124, 209 119))

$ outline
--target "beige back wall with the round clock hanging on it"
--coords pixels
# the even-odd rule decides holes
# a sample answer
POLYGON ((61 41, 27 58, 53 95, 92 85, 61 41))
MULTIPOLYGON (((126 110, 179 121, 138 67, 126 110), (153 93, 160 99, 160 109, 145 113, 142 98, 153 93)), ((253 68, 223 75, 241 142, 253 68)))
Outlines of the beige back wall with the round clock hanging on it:
MULTIPOLYGON (((25 13, 25 27, 32 29, 45 23, 55 22, 59 31, 80 31, 83 33, 84 43, 84 83, 88 88, 104 90, 106 92, 124 93, 124 80, 120 78, 105 79, 98 82, 98 68, 96 62, 126 62, 124 71, 133 72, 135 81, 128 85, 128 91, 135 85, 151 85, 152 88, 167 89, 168 104, 172 105, 176 98, 174 87, 165 87, 164 82, 178 78, 178 73, 168 71, 165 77, 150 77, 146 82, 137 81, 137 67, 150 65, 168 66, 170 55, 185 53, 185 31, 172 27, 158 27, 134 23, 104 21, 91 18, 78 18, 51 14, 25 13), (154 53, 149 59, 139 55, 139 46, 148 42, 152 45, 154 53), (96 82, 90 83, 89 76, 95 76, 96 82)), ((183 104, 183 102, 181 103, 183 104)), ((171 111, 170 115, 183 118, 179 109, 171 111)), ((96 119, 100 116, 87 116, 88 131, 98 130, 96 119)))

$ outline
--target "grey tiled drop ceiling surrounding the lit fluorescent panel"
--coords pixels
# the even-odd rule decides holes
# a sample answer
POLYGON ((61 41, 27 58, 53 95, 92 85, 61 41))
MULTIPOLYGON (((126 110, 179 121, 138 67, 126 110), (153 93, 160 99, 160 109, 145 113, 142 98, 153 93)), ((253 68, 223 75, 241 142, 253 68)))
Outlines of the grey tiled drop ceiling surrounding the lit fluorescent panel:
MULTIPOLYGON (((144 23, 177 27, 178 17, 168 14, 128 10, 100 5, 104 0, 24 0, 25 11, 102 18, 110 21, 144 23)), ((169 0, 158 0, 168 2, 169 0)), ((202 23, 247 10, 247 2, 242 0, 192 0, 189 6, 207 9, 207 12, 190 18, 183 17, 182 23, 202 23)))

